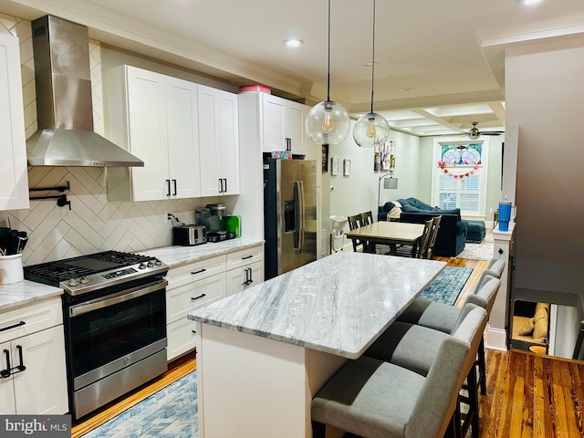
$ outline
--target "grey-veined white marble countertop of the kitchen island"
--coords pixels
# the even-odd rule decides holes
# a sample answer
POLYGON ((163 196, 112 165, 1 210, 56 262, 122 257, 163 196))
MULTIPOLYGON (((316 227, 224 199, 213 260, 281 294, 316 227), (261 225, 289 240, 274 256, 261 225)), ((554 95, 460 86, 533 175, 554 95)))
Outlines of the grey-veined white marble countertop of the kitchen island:
POLYGON ((197 308, 188 318, 357 359, 445 266, 341 251, 197 308))

